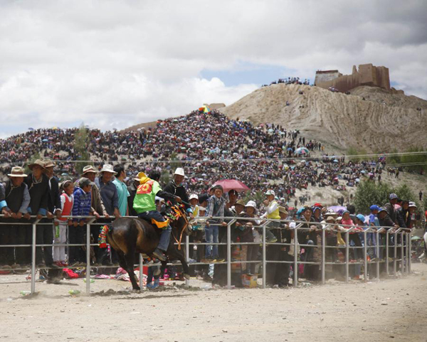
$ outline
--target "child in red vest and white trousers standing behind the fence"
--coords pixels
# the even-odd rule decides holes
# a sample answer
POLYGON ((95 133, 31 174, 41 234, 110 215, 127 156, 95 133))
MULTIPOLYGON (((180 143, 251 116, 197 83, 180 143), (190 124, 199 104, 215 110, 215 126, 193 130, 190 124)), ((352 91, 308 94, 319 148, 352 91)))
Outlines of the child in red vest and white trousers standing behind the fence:
MULTIPOLYGON (((61 216, 70 216, 73 214, 74 204, 74 184, 72 181, 65 181, 61 184, 60 190, 63 193, 60 195, 60 209, 61 216)), ((72 224, 70 218, 58 218, 55 224, 55 231, 53 232, 53 244, 63 245, 67 242, 67 228, 72 224)), ((53 246, 53 262, 58 266, 67 266, 65 262, 65 246, 53 246)))

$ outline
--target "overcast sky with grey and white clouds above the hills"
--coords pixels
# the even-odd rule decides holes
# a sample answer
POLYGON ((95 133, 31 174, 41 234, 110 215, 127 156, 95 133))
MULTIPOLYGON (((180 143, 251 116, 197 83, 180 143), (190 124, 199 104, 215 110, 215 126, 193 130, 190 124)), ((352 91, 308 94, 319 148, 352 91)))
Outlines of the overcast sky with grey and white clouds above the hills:
POLYGON ((0 0, 0 137, 117 129, 373 63, 427 99, 427 1, 0 0))

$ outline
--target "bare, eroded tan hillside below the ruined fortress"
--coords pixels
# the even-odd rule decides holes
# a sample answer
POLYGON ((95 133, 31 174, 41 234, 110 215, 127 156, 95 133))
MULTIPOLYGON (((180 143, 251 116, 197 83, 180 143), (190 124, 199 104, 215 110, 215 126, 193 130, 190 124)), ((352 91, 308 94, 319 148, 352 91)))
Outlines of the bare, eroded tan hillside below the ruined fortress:
POLYGON ((350 146, 373 152, 427 147, 427 101, 378 87, 357 87, 345 95, 308 85, 270 85, 219 110, 254 124, 300 129, 340 151, 350 146))

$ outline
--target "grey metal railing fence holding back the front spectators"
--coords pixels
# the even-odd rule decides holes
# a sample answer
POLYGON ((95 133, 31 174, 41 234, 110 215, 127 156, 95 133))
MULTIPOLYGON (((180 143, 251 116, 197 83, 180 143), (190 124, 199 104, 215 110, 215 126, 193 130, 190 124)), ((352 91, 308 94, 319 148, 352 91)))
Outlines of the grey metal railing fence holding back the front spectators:
MULTIPOLYGON (((0 217, 2 217, 3 215, 0 215, 0 217)), ((130 218, 132 218, 132 216, 128 216, 130 218)), ((36 218, 35 216, 33 216, 32 218, 36 218)), ((63 216, 63 218, 85 218, 88 219, 88 222, 85 223, 86 225, 86 242, 85 244, 81 245, 81 244, 70 244, 70 243, 65 243, 65 244, 36 244, 36 229, 37 229, 37 225, 51 225, 53 228, 53 223, 40 223, 40 220, 36 219, 34 222, 32 223, 25 223, 25 222, 19 222, 19 223, 8 223, 7 219, 2 220, 2 222, 0 222, 0 229, 1 229, 1 225, 31 225, 32 226, 32 243, 31 245, 0 245, 0 247, 31 247, 31 294, 33 294, 34 292, 36 292, 36 247, 86 247, 86 266, 85 266, 85 278, 86 278, 86 292, 87 294, 90 294, 90 269, 93 268, 93 266, 90 264, 90 247, 92 246, 97 246, 97 243, 90 243, 90 225, 96 224, 96 225, 104 225, 105 223, 95 223, 95 221, 97 220, 97 218, 95 218, 94 216, 63 216)), ((105 218, 103 216, 100 216, 100 218, 105 218)), ((287 263, 292 265, 292 269, 293 269, 293 279, 292 279, 292 285, 294 287, 298 286, 298 280, 299 280, 299 274, 298 274, 298 266, 300 264, 315 264, 318 265, 320 267, 320 271, 321 271, 321 282, 322 284, 325 284, 325 270, 327 265, 334 265, 334 264, 339 264, 339 265, 344 265, 345 268, 345 282, 349 282, 349 266, 350 265, 354 265, 354 264, 359 264, 359 265, 363 265, 364 266, 364 281, 367 281, 368 279, 368 265, 370 264, 375 264, 376 265, 376 280, 379 281, 379 275, 380 275, 380 264, 385 264, 385 269, 386 269, 386 274, 389 275, 393 275, 396 276, 397 274, 397 264, 398 262, 401 263, 401 273, 403 275, 407 275, 411 272, 411 233, 410 231, 406 230, 406 229, 402 229, 402 228, 398 228, 395 229, 394 227, 372 227, 369 226, 367 229, 365 229, 362 233, 364 236, 364 245, 362 247, 357 247, 357 246, 351 246, 349 243, 349 235, 352 233, 352 231, 354 230, 354 226, 349 226, 349 225, 342 225, 342 224, 338 224, 338 223, 315 223, 315 222, 306 222, 306 221, 295 221, 295 220, 272 220, 272 219, 263 219, 263 223, 260 225, 253 225, 253 228, 258 229, 262 232, 262 240, 260 242, 231 242, 231 229, 232 226, 237 222, 237 220, 239 220, 240 222, 242 221, 253 221, 255 222, 256 220, 258 220, 259 222, 259 218, 220 218, 220 217, 215 217, 215 218, 197 218, 199 220, 199 223, 201 223, 202 226, 204 226, 204 221, 206 220, 224 220, 227 225, 226 227, 226 242, 218 242, 218 243, 214 243, 214 242, 189 242, 189 236, 186 235, 186 240, 185 240, 185 257, 186 260, 189 260, 189 250, 190 250, 190 246, 191 245, 197 245, 197 246, 206 246, 206 245, 226 245, 226 266, 227 266, 227 288, 231 289, 231 264, 247 264, 247 263, 257 263, 257 264, 262 264, 262 269, 263 269, 263 273, 262 273, 262 279, 263 279, 263 288, 266 287, 266 272, 268 269, 268 264, 271 263, 287 263), (274 242, 274 243, 268 243, 265 241, 265 232, 268 228, 268 225, 272 222, 275 222, 276 224, 279 225, 287 225, 286 227, 283 226, 278 226, 278 227, 274 227, 273 229, 282 229, 282 230, 291 230, 294 233, 294 238, 293 238, 293 243, 288 243, 288 242, 274 242), (290 223, 295 223, 295 227, 289 227, 290 223), (310 228, 304 228, 302 227, 302 225, 310 225, 310 228), (312 226, 315 226, 316 228, 312 228, 312 226), (327 230, 331 229, 331 226, 333 227, 339 227, 340 230, 333 230, 334 232, 338 232, 340 231, 340 233, 344 233, 345 235, 345 245, 340 245, 340 246, 331 246, 331 245, 327 245, 326 243, 326 232, 327 230), (307 244, 300 244, 298 242, 298 233, 299 232, 303 232, 305 230, 313 230, 316 229, 318 233, 321 234, 321 245, 317 245, 317 243, 315 245, 307 245, 307 244), (367 234, 374 234, 376 237, 376 245, 367 245, 367 234), (385 237, 385 238, 380 238, 381 236, 385 237), (394 244, 390 245, 390 238, 389 237, 393 237, 394 239, 394 244), (400 237, 400 243, 398 243, 399 238, 400 237), (385 244, 384 245, 379 245, 380 241, 384 241, 385 240, 385 244), (261 260, 238 260, 238 261, 233 261, 231 258, 231 249, 233 246, 236 245, 261 245, 262 250, 261 250, 261 260), (280 246, 293 246, 293 260, 292 261, 285 261, 285 260, 267 260, 267 247, 268 245, 280 245, 280 246), (320 262, 310 262, 310 261, 304 261, 304 260, 299 260, 299 253, 297 252, 299 247, 303 247, 303 248, 320 248, 321 249, 321 260, 320 262), (393 258, 390 258, 390 247, 393 247, 393 258), (345 261, 343 262, 334 262, 332 260, 332 262, 326 262, 325 260, 325 255, 326 255, 326 250, 327 249, 332 249, 332 248, 338 248, 341 250, 345 250, 345 261), (349 260, 349 251, 350 250, 354 250, 360 248, 363 250, 363 261, 362 262, 350 262, 349 260), (368 248, 374 248, 375 252, 376 252, 376 260, 375 261, 370 261, 368 260, 368 248), (383 253, 385 251, 385 253, 383 253), (385 254, 385 259, 384 259, 384 254, 385 254), (380 255, 382 255, 380 257, 380 255), (399 255, 399 257, 398 257, 399 255), (392 267, 390 267, 390 264, 392 264, 392 267), (392 268, 392 269, 390 269, 392 268)), ((73 228, 73 226, 70 226, 71 229, 73 228)), ((353 232, 354 233, 354 232, 353 232)), ((382 242, 384 243, 384 242, 382 242)), ((196 264, 211 264, 211 262, 196 262, 196 263, 192 263, 190 265, 196 265, 196 264)), ((176 265, 176 264, 173 264, 176 265)), ((143 284, 143 266, 147 266, 147 267, 153 267, 153 266, 157 266, 157 265, 143 265, 143 260, 142 260, 142 255, 139 255, 139 284, 140 287, 142 288, 142 284, 143 284)), ((105 266, 102 266, 105 267, 105 266)), ((45 267, 43 267, 45 268, 45 267)), ((46 267, 48 268, 48 267, 46 267)), ((189 284, 189 280, 186 280, 186 284, 189 284)))

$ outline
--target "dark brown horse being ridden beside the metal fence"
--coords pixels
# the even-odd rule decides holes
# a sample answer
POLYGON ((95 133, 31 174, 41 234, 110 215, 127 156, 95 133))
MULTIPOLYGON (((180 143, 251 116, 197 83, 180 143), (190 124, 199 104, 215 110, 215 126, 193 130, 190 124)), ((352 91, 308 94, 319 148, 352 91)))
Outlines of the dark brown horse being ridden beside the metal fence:
MULTIPOLYGON (((176 220, 170 223, 172 234, 165 254, 169 260, 177 259, 181 262, 184 277, 189 279, 189 265, 186 263, 184 247, 181 246, 181 241, 184 235, 191 234, 191 226, 182 208, 175 206, 172 209, 179 215, 176 220), (175 245, 175 242, 178 242, 179 245, 175 245)), ((134 272, 135 253, 144 253, 152 257, 152 252, 159 244, 161 233, 159 228, 139 218, 117 218, 112 223, 112 229, 107 233, 107 243, 116 250, 120 267, 129 274, 132 288, 135 290, 140 289, 134 272)), ((167 262, 162 262, 162 267, 164 268, 166 264, 167 262)), ((139 280, 139 284, 141 284, 141 281, 142 279, 139 280)))

